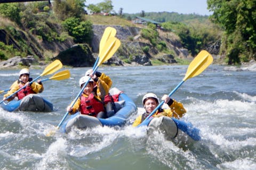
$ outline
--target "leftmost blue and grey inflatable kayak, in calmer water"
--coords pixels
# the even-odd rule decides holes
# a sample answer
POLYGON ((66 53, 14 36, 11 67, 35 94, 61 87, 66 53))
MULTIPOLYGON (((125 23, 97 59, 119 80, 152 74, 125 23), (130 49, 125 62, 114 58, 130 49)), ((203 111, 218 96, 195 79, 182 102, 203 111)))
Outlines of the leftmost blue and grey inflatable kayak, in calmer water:
POLYGON ((49 100, 43 97, 30 94, 21 100, 11 100, 8 103, 2 103, 1 107, 5 111, 31 111, 31 112, 52 112, 53 105, 49 100))

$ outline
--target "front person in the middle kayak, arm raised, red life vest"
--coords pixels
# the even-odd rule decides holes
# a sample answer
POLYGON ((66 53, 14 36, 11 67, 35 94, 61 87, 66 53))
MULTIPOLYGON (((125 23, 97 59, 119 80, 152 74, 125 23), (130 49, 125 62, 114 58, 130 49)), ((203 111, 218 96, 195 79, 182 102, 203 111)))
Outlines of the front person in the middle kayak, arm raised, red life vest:
POLYGON ((89 76, 85 75, 79 80, 79 86, 82 88, 87 81, 89 83, 81 97, 77 99, 73 107, 68 106, 67 111, 70 114, 80 111, 81 114, 106 118, 103 101, 112 84, 111 79, 104 73, 96 72, 92 75, 91 72, 89 76))

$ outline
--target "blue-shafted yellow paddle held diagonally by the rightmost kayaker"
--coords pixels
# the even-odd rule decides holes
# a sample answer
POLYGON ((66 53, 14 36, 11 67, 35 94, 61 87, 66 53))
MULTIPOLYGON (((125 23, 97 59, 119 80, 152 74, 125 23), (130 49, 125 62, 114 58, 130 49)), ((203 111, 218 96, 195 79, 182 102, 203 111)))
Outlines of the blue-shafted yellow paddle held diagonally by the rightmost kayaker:
MULTIPOLYGON (((202 73, 213 61, 213 58, 211 54, 206 52, 206 50, 202 50, 195 58, 194 60, 189 64, 187 73, 183 80, 178 84, 177 87, 175 87, 172 92, 169 94, 169 97, 185 82, 187 79, 193 78, 197 76, 198 74, 202 73)), ((155 109, 152 111, 145 120, 139 124, 139 126, 147 125, 147 120, 156 113, 156 111, 164 104, 164 101, 162 101, 155 109)))

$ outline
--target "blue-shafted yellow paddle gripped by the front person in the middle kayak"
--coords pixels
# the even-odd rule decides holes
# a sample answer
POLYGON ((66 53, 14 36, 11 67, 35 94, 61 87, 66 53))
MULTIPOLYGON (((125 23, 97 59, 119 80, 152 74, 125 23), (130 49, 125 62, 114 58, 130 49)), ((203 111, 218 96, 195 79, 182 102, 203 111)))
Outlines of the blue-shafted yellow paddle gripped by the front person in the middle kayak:
MULTIPOLYGON (((106 41, 105 46, 102 48, 102 53, 100 53, 101 55, 99 55, 99 62, 97 64, 97 66, 95 66, 95 69, 93 70, 92 74, 95 74, 99 65, 101 65, 103 62, 107 61, 109 58, 111 58, 111 56, 114 55, 114 53, 116 52, 116 50, 119 48, 120 45, 121 45, 120 40, 115 37, 110 37, 106 41)), ((89 80, 86 83, 84 83, 82 89, 80 90, 80 92, 76 96, 76 98, 73 100, 70 107, 73 107, 75 105, 76 100, 81 96, 81 94, 83 93, 83 91, 88 83, 89 83, 89 80)), ((63 116, 62 120, 60 121, 60 123, 57 126, 57 129, 60 128, 61 124, 64 122, 64 120, 66 119, 67 116, 68 116, 68 112, 66 112, 66 114, 63 116)), ((55 130, 50 131, 49 133, 46 134, 46 137, 49 137, 49 136, 53 135, 54 133, 55 133, 55 130)))

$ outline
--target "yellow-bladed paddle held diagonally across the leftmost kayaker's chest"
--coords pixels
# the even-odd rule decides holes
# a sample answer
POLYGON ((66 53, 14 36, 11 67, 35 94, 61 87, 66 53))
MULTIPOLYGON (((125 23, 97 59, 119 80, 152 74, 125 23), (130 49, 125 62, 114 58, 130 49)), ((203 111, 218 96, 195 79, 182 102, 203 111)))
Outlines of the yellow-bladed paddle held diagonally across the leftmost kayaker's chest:
MULTIPOLYGON (((54 73, 54 72, 60 70, 61 68, 62 68, 62 63, 61 63, 59 60, 55 60, 54 62, 52 62, 50 65, 48 65, 48 66, 44 69, 44 71, 43 71, 43 73, 42 73, 41 75, 39 75, 37 78, 35 78, 35 79, 32 80, 31 82, 29 82, 29 84, 31 84, 31 83, 33 83, 34 81, 40 79, 42 76, 48 75, 48 74, 52 74, 52 73, 54 73)), ((23 87, 20 88, 19 90, 15 91, 12 95, 6 97, 6 99, 9 99, 10 97, 12 97, 13 95, 17 94, 17 92, 19 92, 20 90, 22 90, 22 89, 24 89, 24 88, 26 88, 26 86, 23 86, 23 87)), ((4 100, 2 100, 2 101, 0 102, 0 104, 3 103, 3 102, 4 102, 4 100)))

